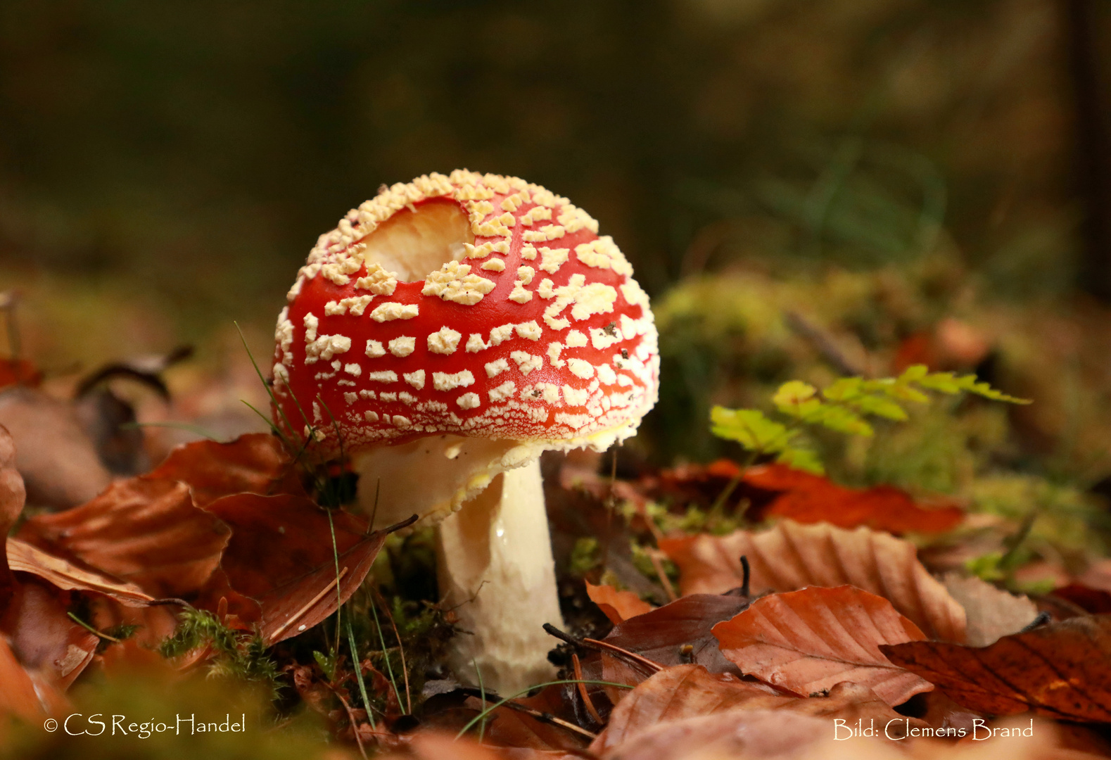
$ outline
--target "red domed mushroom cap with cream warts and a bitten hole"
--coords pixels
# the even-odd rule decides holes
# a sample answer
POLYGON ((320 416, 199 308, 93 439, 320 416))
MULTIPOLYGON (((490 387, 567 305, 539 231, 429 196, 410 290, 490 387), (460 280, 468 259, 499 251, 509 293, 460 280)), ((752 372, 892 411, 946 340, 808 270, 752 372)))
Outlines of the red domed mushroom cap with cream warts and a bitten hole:
POLYGON ((629 262, 584 211, 516 177, 383 188, 321 236, 276 340, 276 422, 311 426, 328 456, 337 428, 348 452, 440 433, 603 449, 657 399, 629 262), (394 271, 407 256, 413 281, 394 271))

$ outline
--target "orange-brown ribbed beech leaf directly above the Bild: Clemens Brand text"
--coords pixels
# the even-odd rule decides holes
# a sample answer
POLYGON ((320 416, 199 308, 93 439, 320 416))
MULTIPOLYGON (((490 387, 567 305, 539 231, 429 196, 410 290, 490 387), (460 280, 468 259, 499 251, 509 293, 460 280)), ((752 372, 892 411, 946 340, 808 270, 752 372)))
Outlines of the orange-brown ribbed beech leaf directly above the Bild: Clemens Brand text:
POLYGON ((741 672, 800 696, 852 681, 894 706, 933 688, 879 649, 924 639, 918 627, 887 599, 851 586, 758 599, 713 634, 741 672))

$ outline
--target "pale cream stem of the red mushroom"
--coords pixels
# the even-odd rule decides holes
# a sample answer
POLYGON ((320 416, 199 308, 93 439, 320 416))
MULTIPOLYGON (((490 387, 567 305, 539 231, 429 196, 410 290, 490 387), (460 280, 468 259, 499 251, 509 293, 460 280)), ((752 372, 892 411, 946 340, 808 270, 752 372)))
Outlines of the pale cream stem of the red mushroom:
POLYGON ((499 474, 479 496, 443 520, 437 572, 444 606, 462 631, 449 664, 461 681, 499 693, 548 680, 551 638, 543 623, 562 624, 540 462, 499 474))

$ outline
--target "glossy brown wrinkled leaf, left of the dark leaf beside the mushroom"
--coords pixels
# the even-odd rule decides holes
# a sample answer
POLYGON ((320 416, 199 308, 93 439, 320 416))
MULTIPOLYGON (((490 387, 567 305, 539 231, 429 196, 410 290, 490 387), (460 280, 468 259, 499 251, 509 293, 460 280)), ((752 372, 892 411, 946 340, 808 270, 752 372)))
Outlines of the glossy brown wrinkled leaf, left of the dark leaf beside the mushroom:
POLYGON ((188 597, 216 570, 228 530, 193 506, 184 483, 140 477, 81 507, 31 518, 19 538, 152 597, 188 597))

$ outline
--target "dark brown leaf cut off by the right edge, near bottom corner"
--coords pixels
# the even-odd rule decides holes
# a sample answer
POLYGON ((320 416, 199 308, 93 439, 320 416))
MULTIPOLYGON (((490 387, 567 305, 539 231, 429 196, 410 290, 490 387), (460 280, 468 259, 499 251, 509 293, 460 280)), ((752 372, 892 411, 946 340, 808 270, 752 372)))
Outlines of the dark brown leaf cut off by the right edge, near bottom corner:
POLYGON ((1111 723, 1111 616, 1070 618, 982 649, 912 641, 882 651, 977 712, 1111 723))

